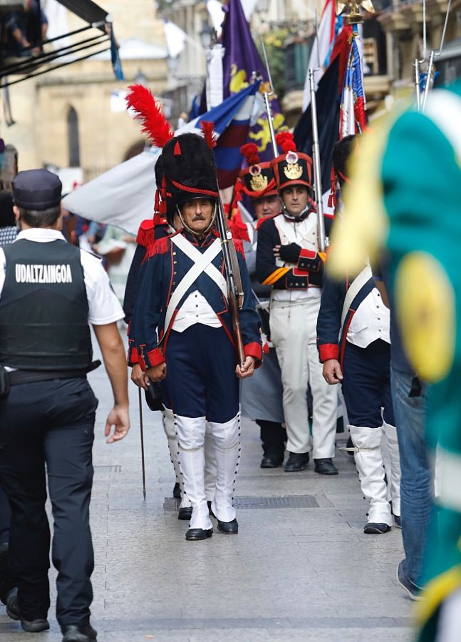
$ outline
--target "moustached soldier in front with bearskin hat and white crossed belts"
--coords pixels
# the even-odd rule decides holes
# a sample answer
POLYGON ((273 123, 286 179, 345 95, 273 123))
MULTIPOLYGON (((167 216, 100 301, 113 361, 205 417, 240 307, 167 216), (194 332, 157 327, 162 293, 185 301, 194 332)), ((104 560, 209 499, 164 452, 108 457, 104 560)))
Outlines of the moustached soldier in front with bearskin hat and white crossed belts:
MULTIPOLYGON (((212 536, 204 489, 207 421, 215 442, 217 481, 212 512, 218 531, 236 534, 232 505, 240 458, 239 378, 261 362, 259 316, 241 244, 237 258, 245 361, 236 367, 222 245, 214 228, 219 198, 212 150, 204 138, 170 138, 161 155, 162 200, 182 229, 150 246, 131 335, 138 360, 174 413, 185 492, 192 504, 187 540, 212 536)), ((158 161, 157 161, 158 162, 158 161)))

